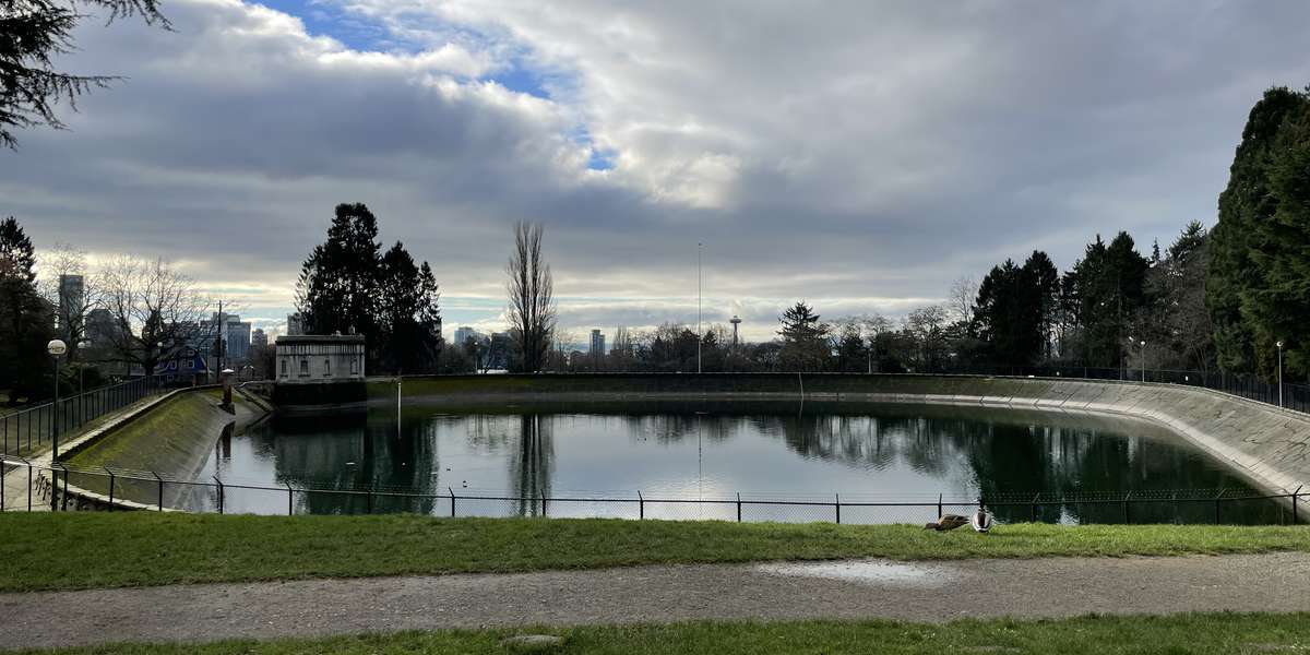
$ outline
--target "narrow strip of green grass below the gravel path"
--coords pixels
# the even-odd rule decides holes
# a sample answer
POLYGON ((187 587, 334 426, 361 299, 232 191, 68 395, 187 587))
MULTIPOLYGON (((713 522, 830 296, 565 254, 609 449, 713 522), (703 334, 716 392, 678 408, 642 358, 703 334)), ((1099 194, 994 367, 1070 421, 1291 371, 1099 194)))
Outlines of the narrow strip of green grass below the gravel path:
MULTIPOLYGON (((697 622, 647 626, 541 629, 563 645, 541 652, 658 655, 705 652, 833 654, 1280 654, 1310 648, 1310 614, 1179 614, 1082 617, 1047 621, 955 621, 943 625, 893 621, 697 622)), ((117 645, 60 654, 124 655, 372 655, 523 652, 502 641, 529 630, 443 630, 389 635, 217 642, 211 645, 117 645)))

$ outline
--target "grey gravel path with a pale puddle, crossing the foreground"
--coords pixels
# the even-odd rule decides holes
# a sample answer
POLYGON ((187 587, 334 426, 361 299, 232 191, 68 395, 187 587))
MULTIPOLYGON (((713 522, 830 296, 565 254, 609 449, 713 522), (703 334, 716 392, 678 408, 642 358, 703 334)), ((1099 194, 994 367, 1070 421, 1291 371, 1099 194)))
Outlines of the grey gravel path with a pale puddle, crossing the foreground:
POLYGON ((647 566, 0 595, 0 648, 702 618, 1310 610, 1310 554, 647 566))

